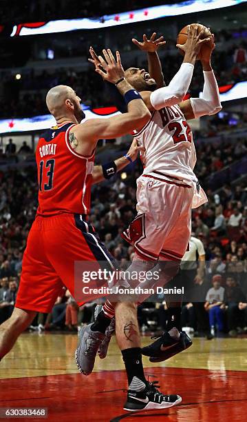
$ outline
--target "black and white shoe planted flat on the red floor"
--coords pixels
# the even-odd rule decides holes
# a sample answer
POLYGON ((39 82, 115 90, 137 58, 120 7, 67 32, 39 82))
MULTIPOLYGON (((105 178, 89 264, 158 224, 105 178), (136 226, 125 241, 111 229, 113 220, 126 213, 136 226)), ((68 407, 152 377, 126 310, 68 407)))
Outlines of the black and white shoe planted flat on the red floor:
POLYGON ((128 410, 129 412, 160 410, 171 408, 181 403, 182 398, 178 394, 167 396, 157 390, 157 388, 160 388, 160 385, 156 385, 157 383, 158 381, 153 381, 153 383, 147 382, 146 388, 141 392, 128 390, 124 410, 128 410))

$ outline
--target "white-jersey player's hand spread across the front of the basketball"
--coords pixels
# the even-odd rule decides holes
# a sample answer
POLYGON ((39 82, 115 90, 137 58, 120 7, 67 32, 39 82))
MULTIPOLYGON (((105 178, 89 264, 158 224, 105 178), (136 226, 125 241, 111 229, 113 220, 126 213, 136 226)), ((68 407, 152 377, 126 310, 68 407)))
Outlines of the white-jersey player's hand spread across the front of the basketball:
POLYGON ((188 38, 186 40, 186 43, 184 44, 177 44, 176 47, 180 48, 180 50, 183 50, 186 53, 193 53, 197 56, 197 54, 200 52, 202 44, 207 43, 210 41, 211 37, 204 37, 206 28, 202 28, 202 30, 198 31, 198 26, 192 26, 190 25, 187 34, 188 38))

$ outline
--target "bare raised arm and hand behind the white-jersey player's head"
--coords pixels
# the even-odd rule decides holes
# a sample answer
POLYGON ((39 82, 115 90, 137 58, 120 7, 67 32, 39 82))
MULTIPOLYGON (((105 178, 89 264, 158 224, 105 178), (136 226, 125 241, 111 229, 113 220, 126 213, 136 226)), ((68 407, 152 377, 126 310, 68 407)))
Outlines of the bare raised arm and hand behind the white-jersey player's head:
POLYGON ((138 41, 137 39, 132 38, 132 42, 138 46, 140 50, 147 52, 149 74, 157 83, 157 88, 162 88, 165 83, 160 58, 158 56, 158 48, 164 46, 166 41, 163 41, 164 37, 159 37, 158 39, 155 38, 156 32, 153 32, 150 39, 147 39, 147 35, 143 34, 143 41, 138 41))

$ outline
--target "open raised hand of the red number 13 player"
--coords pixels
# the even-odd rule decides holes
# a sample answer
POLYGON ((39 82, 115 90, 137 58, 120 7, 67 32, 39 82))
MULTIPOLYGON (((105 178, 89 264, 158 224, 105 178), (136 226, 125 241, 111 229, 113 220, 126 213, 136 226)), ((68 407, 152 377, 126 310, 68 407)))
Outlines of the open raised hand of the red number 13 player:
POLYGON ((122 68, 119 51, 116 51, 116 60, 111 50, 103 50, 102 56, 98 56, 99 63, 96 64, 96 72, 103 77, 105 81, 116 83, 119 79, 125 77, 125 71, 122 68))

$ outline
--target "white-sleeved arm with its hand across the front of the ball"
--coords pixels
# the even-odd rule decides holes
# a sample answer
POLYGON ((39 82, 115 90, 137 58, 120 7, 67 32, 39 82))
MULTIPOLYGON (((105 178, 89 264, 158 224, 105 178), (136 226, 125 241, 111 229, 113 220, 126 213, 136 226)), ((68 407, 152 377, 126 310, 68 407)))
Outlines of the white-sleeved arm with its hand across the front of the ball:
MULTIPOLYGON (((154 110, 173 106, 180 103, 184 98, 184 95, 188 91, 191 83, 197 54, 200 52, 202 44, 210 41, 210 38, 202 39, 203 34, 204 29, 197 34, 197 26, 190 26, 186 43, 183 45, 177 45, 180 50, 184 50, 184 61, 180 70, 178 70, 169 83, 169 86, 164 86, 163 88, 155 90, 149 94, 150 103, 154 110)), ((148 94, 146 92, 142 95, 142 97, 145 102, 148 101, 148 94)))

